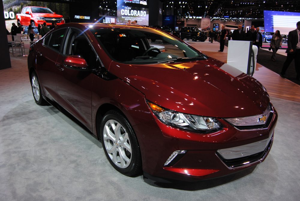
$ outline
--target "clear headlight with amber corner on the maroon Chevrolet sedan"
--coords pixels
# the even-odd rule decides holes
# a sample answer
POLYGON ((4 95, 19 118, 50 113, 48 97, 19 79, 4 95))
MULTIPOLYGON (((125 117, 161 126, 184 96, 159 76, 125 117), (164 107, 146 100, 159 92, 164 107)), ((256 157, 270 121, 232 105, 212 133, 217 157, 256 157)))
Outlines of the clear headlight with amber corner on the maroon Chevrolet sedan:
POLYGON ((147 103, 158 119, 167 125, 200 133, 215 132, 222 129, 221 123, 215 118, 183 114, 161 108, 152 102, 147 103))

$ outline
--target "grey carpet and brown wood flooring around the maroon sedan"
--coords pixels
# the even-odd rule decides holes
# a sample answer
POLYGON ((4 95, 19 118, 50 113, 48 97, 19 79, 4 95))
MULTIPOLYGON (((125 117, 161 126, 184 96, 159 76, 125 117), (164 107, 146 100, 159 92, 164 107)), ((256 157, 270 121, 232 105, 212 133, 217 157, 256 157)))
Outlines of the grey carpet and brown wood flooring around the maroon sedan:
MULTIPOLYGON (((217 42, 187 42, 226 61, 227 47, 217 52, 217 42)), ((117 172, 89 132, 55 107, 35 104, 27 56, 11 63, 0 70, 0 200, 299 200, 300 86, 261 65, 253 77, 279 114, 266 160, 222 178, 165 184, 117 172)))

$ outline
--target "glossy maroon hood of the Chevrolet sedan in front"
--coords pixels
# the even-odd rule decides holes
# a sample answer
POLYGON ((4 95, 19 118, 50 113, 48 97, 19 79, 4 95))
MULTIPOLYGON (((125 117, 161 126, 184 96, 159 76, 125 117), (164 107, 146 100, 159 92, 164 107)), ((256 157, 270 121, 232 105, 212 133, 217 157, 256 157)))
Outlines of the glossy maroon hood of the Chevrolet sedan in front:
POLYGON ((245 117, 262 114, 269 104, 267 92, 256 79, 212 58, 151 65, 112 62, 109 71, 147 100, 182 113, 245 117))

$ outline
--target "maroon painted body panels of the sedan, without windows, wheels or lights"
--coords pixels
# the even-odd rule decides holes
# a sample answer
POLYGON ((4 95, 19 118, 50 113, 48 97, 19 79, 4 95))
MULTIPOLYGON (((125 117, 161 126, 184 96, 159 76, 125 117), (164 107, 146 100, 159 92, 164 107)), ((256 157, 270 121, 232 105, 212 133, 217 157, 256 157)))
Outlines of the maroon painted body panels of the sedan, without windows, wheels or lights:
MULTIPOLYGON (((107 81, 99 75, 87 73, 79 80, 76 72, 63 67, 67 59, 65 55, 42 45, 44 38, 34 44, 29 54, 29 75, 35 70, 41 82, 42 95, 61 105, 95 136, 99 135, 101 110, 115 107, 122 111, 137 136, 145 175, 154 179, 197 181, 229 175, 265 160, 272 141, 264 157, 240 168, 228 168, 216 154, 218 149, 246 145, 273 136, 277 121, 275 110, 265 129, 241 131, 224 120, 254 116, 265 111, 270 100, 257 80, 244 73, 233 76, 222 70, 223 62, 213 58, 147 65, 113 61, 89 30, 90 26, 105 29, 139 26, 69 23, 59 27, 74 27, 85 32, 103 66, 117 79, 107 81), (147 100, 173 111, 215 117, 223 128, 199 134, 166 125, 155 116, 147 100), (187 153, 173 166, 164 167, 170 154, 176 150, 187 150, 187 153)), ((69 59, 78 61, 80 65, 77 57, 69 59)))

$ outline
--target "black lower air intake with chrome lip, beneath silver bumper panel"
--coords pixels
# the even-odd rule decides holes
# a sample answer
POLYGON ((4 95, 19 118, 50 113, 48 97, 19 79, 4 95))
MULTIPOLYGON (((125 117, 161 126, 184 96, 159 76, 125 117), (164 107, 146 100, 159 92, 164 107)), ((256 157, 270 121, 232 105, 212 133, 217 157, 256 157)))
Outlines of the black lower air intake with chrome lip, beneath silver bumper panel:
POLYGON ((265 158, 265 156, 267 155, 268 151, 270 150, 272 143, 273 143, 273 135, 270 139, 270 142, 268 143, 268 145, 266 146, 266 148, 263 151, 260 151, 256 154, 252 154, 252 155, 246 156, 246 157, 225 159, 218 152, 216 152, 216 155, 220 158, 220 160, 227 167, 229 167, 230 169, 235 169, 235 168, 243 167, 243 166, 263 160, 265 158))

